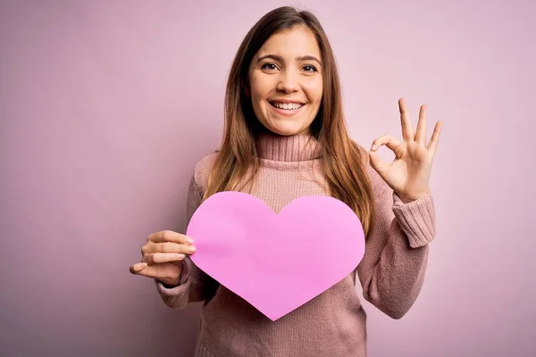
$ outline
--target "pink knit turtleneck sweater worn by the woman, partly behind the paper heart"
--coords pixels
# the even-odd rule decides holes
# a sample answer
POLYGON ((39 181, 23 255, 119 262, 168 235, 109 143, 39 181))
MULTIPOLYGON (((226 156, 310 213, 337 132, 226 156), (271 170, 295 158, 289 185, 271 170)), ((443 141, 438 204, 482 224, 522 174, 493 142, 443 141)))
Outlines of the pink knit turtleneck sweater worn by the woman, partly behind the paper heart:
MULTIPOLYGON (((274 212, 299 196, 327 195, 319 147, 315 141, 306 145, 306 139, 264 135, 257 143, 262 167, 248 193, 274 212)), ((196 165, 188 190, 188 220, 201 203, 215 155, 196 165)), ((204 302, 197 357, 366 356, 366 313, 356 294, 357 281, 367 301, 393 319, 404 316, 423 286, 428 243, 435 236, 432 197, 429 193, 402 203, 368 162, 366 167, 376 212, 363 260, 347 278, 281 319, 269 320, 189 259, 179 286, 166 288, 156 281, 163 302, 172 308, 204 302)), ((329 264, 330 259, 318 263, 329 264)))

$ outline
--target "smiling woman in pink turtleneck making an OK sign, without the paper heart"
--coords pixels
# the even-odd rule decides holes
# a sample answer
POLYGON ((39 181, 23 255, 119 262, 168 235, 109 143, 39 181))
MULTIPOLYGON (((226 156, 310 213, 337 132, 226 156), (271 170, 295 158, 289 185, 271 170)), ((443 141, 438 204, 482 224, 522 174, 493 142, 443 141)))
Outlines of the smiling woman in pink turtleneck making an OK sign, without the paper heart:
POLYGON ((347 278, 272 321, 188 259, 189 237, 151 235, 130 271, 155 278, 172 308, 205 302, 197 356, 365 356, 356 278, 364 298, 393 319, 415 303, 435 235, 429 179, 440 122, 426 146, 425 107, 414 134, 398 104, 404 140, 379 137, 367 152, 348 137, 334 56, 312 13, 281 7, 247 33, 230 71, 222 147, 197 163, 188 220, 220 191, 246 191, 274 212, 299 196, 331 195, 363 223, 365 253, 347 278), (394 162, 381 162, 381 145, 395 152, 394 162))

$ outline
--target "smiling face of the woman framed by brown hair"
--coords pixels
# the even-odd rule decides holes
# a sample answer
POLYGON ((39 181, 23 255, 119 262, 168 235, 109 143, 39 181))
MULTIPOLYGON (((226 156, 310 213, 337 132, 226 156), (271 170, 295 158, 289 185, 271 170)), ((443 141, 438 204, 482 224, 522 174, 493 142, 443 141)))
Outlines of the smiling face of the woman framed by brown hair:
POLYGON ((295 27, 270 37, 249 66, 248 89, 266 129, 308 133, 322 101, 322 57, 313 32, 295 27))

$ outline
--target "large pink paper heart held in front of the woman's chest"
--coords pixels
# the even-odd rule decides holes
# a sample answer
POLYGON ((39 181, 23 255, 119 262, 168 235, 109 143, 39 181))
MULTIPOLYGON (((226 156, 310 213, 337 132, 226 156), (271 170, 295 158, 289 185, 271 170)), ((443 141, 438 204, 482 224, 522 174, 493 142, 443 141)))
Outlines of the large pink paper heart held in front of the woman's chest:
POLYGON ((275 214, 253 195, 220 192, 186 234, 197 267, 271 320, 337 284, 364 255, 361 221, 330 196, 299 197, 275 214))

